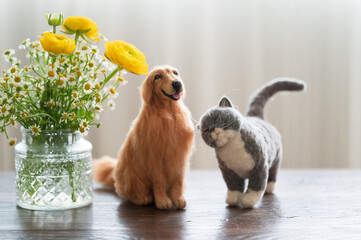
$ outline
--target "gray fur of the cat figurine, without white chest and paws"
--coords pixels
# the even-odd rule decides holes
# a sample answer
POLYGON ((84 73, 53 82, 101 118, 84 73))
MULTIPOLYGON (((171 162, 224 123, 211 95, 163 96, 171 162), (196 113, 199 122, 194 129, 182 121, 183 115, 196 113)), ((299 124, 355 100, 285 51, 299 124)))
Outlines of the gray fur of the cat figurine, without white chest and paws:
MULTIPOLYGON (((218 151, 226 147, 217 146, 212 138, 215 128, 239 132, 245 151, 252 157, 254 166, 249 170, 248 190, 264 191, 267 182, 275 182, 277 171, 282 160, 281 136, 277 129, 263 120, 263 108, 267 100, 278 91, 295 91, 304 89, 302 81, 292 79, 276 79, 262 87, 252 98, 247 116, 233 108, 231 101, 223 97, 218 107, 209 109, 201 118, 200 129, 202 138, 207 145, 215 148, 219 167, 227 188, 230 191, 244 192, 244 176, 239 176, 234 169, 226 165, 218 151)), ((241 142, 241 141, 240 141, 241 142)), ((243 156, 243 155, 242 155, 243 156)), ((243 157, 242 157, 243 158, 243 157)))

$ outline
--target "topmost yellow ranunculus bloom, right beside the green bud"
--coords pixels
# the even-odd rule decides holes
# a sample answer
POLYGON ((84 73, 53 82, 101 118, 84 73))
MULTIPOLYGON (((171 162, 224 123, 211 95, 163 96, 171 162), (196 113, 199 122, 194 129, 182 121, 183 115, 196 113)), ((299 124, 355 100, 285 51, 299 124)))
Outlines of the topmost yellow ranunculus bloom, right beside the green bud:
POLYGON ((79 31, 80 33, 84 33, 88 38, 93 39, 94 41, 99 41, 100 38, 97 37, 99 35, 98 29, 99 27, 95 24, 95 22, 86 17, 68 17, 65 19, 62 27, 65 31, 73 32, 79 31))

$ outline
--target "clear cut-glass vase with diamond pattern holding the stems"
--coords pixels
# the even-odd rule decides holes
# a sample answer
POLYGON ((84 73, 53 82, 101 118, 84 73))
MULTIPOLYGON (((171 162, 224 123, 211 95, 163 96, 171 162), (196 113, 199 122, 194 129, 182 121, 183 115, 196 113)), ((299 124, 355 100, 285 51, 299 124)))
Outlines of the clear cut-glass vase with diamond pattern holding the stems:
POLYGON ((15 147, 16 201, 22 208, 64 210, 92 202, 92 145, 78 131, 21 129, 15 147))

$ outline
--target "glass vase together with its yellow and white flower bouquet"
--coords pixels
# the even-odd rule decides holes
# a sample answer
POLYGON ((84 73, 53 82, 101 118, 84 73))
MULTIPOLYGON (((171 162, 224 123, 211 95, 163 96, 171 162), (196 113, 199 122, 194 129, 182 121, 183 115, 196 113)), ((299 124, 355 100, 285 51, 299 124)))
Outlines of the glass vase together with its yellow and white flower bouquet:
POLYGON ((114 109, 125 73, 147 74, 148 65, 141 51, 119 40, 105 42, 103 57, 97 44, 105 37, 89 18, 64 21, 62 14, 49 14, 47 21, 51 32, 19 46, 28 65, 20 64, 14 50, 4 52, 10 67, 0 78, 0 132, 9 146, 16 145, 18 205, 68 209, 92 201, 92 146, 84 135, 100 127, 104 107, 114 109), (18 144, 7 133, 17 125, 18 144))

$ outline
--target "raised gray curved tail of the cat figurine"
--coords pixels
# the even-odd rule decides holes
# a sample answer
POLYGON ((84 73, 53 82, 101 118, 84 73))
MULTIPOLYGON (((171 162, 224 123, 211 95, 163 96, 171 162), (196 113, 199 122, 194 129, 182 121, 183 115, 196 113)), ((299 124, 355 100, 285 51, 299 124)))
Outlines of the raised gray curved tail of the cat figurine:
POLYGON ((262 86, 251 98, 247 116, 263 119, 263 109, 268 99, 279 91, 302 91, 306 83, 292 78, 277 78, 262 86))

